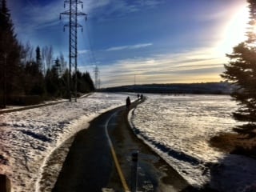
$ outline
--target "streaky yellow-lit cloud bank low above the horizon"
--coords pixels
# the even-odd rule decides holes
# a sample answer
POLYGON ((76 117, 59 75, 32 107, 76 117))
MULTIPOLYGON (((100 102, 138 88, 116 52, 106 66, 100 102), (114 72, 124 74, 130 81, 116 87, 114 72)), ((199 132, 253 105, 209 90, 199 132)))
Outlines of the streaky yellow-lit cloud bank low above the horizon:
POLYGON ((210 50, 162 54, 150 58, 130 58, 111 66, 99 66, 102 86, 170 82, 218 82, 224 70, 223 58, 210 50), (204 55, 204 57, 202 57, 204 55))

